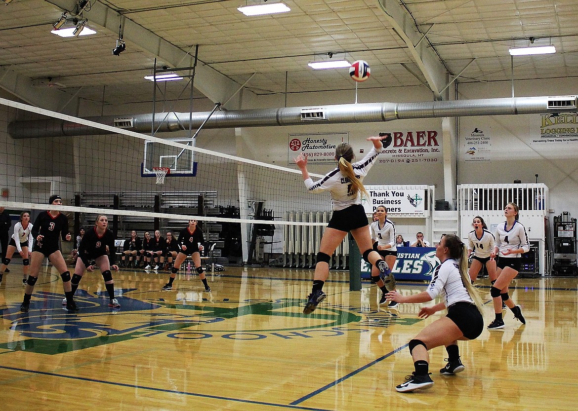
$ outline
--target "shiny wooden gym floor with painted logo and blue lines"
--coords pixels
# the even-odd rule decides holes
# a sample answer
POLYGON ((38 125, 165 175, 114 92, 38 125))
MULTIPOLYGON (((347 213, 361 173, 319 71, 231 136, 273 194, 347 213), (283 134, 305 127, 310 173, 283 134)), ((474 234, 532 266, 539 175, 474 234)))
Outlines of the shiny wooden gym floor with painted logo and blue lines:
MULTIPOLYGON (((240 267, 208 273, 212 293, 196 275, 161 292, 168 274, 113 273, 120 309, 108 307, 101 274, 87 273, 80 311, 66 313, 60 277, 47 267, 21 313, 21 266, 9 268, 0 285, 4 410, 576 408, 576 278, 517 279, 511 294, 525 326, 508 311, 503 330, 460 342, 466 369, 455 376, 439 374, 446 352, 433 349, 435 385, 400 394, 395 385, 413 371, 407 342, 440 314, 380 308, 375 286, 349 292, 346 272, 331 272, 327 300, 309 316, 313 271, 240 267)), ((478 283, 489 298, 487 279, 478 283)))

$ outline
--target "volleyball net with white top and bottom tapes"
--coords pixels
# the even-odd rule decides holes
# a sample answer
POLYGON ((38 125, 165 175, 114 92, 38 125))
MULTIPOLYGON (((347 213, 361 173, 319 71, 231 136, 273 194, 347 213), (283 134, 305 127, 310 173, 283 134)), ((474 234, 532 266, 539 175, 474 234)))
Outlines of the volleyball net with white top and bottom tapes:
POLYGON ((300 217, 329 211, 330 201, 307 192, 297 168, 206 150, 183 133, 150 136, 6 99, 0 99, 0 124, 6 134, 0 205, 32 211, 32 221, 58 194, 76 230, 105 214, 114 219, 118 238, 133 229, 140 237, 154 229, 164 236, 186 227, 190 218, 201 221, 203 231, 239 223, 259 235, 280 229, 277 237, 287 236, 288 226, 327 224, 325 217, 300 217), (10 133, 15 124, 16 138, 10 133), (94 132, 62 135, 87 127, 94 132))

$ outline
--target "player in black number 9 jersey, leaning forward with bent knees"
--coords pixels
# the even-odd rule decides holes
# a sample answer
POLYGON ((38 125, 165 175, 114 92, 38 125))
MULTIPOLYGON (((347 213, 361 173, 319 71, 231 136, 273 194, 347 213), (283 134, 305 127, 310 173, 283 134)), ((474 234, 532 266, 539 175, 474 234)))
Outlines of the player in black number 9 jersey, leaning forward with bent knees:
MULTIPOLYGON (((99 215, 94 223, 94 227, 88 230, 80 241, 78 248, 78 259, 72 275, 72 293, 78 289, 80 280, 85 270, 92 272, 95 266, 90 264, 91 260, 95 261, 96 266, 101 270, 102 278, 105 281, 106 292, 109 295, 109 307, 118 308, 118 300, 114 297, 114 279, 112 278, 112 268, 118 271, 115 264, 116 247, 114 246, 114 234, 108 229, 108 218, 106 215, 99 215), (108 250, 107 250, 108 248, 108 250)), ((62 301, 64 304, 65 301, 62 301)))

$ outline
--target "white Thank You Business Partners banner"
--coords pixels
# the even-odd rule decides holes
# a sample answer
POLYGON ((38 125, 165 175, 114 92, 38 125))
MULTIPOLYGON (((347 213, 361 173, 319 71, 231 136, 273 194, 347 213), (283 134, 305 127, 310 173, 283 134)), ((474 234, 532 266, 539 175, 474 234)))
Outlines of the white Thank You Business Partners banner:
POLYGON ((361 199, 365 214, 373 214, 377 206, 386 206, 390 212, 424 214, 426 194, 424 189, 371 189, 369 199, 361 199))

